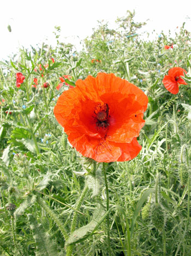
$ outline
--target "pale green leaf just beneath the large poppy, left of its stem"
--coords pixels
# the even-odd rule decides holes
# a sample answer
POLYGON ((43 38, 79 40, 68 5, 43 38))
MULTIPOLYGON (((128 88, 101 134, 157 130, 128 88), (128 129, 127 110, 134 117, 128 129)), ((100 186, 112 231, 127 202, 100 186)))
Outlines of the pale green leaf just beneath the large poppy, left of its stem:
POLYGON ((86 176, 86 184, 88 189, 92 190, 92 197, 97 196, 103 186, 102 172, 97 171, 96 175, 89 174, 86 176))

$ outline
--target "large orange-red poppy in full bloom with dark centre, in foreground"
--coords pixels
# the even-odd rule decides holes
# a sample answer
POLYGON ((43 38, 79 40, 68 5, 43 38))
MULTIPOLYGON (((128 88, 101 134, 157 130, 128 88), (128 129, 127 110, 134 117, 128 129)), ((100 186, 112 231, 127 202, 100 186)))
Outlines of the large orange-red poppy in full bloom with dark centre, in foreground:
POLYGON ((134 84, 112 73, 98 73, 65 90, 54 114, 83 156, 97 162, 128 161, 141 150, 136 137, 144 126, 147 104, 147 96, 134 84))

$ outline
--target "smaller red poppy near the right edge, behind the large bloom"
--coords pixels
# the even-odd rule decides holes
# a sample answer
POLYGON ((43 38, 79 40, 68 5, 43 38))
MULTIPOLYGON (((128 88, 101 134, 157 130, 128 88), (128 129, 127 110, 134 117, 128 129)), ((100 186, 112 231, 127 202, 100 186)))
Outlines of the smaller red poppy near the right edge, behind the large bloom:
POLYGON ((168 74, 163 78, 164 87, 172 94, 177 94, 179 90, 179 84, 187 84, 181 76, 184 76, 186 70, 182 67, 172 67, 168 74))

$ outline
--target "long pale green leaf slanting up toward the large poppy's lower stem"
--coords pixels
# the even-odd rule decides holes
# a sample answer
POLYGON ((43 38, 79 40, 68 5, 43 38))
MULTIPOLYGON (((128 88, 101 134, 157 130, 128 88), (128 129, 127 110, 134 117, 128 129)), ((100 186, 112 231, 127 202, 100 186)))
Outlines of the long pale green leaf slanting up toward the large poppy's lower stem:
POLYGON ((94 230, 99 220, 103 217, 104 213, 105 211, 103 206, 99 205, 98 207, 96 207, 92 216, 92 220, 87 225, 82 226, 80 227, 80 229, 77 229, 73 233, 71 233, 66 244, 77 243, 82 238, 85 238, 90 232, 94 230))

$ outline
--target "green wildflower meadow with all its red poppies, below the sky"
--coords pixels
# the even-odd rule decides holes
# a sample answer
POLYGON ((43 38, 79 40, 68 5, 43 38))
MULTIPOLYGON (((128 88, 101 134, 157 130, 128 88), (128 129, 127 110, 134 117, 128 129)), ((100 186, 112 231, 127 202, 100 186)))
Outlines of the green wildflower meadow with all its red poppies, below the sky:
POLYGON ((0 255, 191 255, 191 33, 134 15, 0 61, 0 255))

